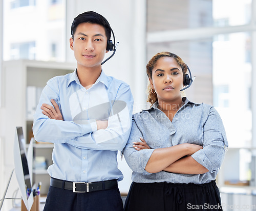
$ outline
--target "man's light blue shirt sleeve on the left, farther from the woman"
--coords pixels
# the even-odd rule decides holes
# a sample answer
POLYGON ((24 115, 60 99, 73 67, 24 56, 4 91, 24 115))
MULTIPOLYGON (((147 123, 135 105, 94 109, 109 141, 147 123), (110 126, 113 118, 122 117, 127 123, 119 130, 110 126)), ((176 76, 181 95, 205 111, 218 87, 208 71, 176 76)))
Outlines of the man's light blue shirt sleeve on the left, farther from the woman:
POLYGON ((42 114, 42 103, 52 105, 51 99, 54 99, 61 109, 59 99, 61 87, 59 84, 59 78, 54 77, 47 82, 46 87, 42 90, 33 122, 33 134, 36 141, 66 143, 71 142, 72 139, 78 136, 83 136, 97 130, 95 120, 91 120, 89 124, 76 124, 73 121, 49 119, 46 115, 42 114))

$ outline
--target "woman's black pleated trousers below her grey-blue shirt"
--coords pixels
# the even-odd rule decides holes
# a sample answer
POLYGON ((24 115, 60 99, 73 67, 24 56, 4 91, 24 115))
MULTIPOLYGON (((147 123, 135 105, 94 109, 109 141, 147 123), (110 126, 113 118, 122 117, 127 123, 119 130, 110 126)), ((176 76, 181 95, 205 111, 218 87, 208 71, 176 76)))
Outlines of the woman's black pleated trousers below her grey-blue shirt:
POLYGON ((124 211, 222 210, 220 192, 215 181, 194 183, 133 182, 124 211))

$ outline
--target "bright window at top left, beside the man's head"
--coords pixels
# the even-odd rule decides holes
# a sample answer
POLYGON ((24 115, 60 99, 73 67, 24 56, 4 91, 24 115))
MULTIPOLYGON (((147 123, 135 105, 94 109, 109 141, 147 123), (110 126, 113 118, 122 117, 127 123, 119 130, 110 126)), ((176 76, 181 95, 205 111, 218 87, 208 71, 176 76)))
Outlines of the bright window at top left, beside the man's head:
POLYGON ((4 61, 65 61, 66 2, 40 0, 39 5, 36 2, 39 3, 39 0, 13 0, 12 8, 18 8, 13 10, 9 7, 10 0, 4 0, 4 61), (32 5, 34 7, 25 7, 32 5))

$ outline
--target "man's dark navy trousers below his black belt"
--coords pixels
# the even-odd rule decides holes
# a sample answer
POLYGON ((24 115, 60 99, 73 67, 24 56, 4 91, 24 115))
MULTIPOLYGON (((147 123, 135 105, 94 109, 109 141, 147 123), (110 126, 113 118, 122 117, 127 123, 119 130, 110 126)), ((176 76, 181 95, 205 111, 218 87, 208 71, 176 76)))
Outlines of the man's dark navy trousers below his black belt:
POLYGON ((123 211, 123 203, 118 187, 73 193, 50 186, 44 211, 123 211))

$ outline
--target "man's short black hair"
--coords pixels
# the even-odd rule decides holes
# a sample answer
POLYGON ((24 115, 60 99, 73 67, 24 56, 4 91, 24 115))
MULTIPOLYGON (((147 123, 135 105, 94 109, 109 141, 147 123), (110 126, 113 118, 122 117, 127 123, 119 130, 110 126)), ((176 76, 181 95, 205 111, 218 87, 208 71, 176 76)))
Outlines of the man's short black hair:
POLYGON ((74 38, 76 28, 80 23, 95 23, 95 24, 102 25, 102 27, 104 27, 104 29, 105 29, 106 37, 108 38, 108 40, 110 40, 111 27, 110 27, 108 20, 106 20, 102 15, 100 15, 94 11, 88 11, 88 12, 81 13, 80 15, 75 17, 74 21, 71 25, 72 38, 74 38))

